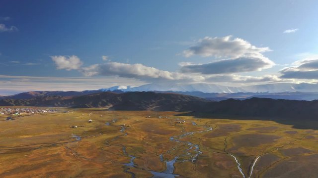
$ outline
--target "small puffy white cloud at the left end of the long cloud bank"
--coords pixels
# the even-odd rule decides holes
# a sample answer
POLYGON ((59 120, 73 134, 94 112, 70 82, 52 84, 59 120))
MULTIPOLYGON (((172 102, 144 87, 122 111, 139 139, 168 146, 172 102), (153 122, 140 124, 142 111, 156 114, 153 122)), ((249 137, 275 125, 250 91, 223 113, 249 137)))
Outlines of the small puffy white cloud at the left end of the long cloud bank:
POLYGON ((67 71, 78 70, 83 65, 83 62, 76 55, 50 57, 55 62, 57 69, 65 69, 67 71))

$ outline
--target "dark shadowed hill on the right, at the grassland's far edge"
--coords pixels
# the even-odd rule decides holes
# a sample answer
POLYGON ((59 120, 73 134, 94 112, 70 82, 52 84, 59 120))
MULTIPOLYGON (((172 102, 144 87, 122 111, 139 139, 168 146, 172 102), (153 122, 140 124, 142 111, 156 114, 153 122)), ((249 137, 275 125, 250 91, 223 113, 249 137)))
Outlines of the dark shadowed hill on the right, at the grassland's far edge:
POLYGON ((318 100, 228 99, 219 102, 209 102, 205 107, 197 111, 229 116, 316 119, 318 117, 318 100))

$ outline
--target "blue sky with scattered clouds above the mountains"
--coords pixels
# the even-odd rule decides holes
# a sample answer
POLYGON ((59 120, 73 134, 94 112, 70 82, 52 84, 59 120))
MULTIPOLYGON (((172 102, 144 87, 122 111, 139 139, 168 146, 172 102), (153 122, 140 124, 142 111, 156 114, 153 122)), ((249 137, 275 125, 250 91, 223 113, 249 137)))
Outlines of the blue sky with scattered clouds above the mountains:
POLYGON ((317 12, 317 0, 1 0, 0 94, 315 83, 317 12))

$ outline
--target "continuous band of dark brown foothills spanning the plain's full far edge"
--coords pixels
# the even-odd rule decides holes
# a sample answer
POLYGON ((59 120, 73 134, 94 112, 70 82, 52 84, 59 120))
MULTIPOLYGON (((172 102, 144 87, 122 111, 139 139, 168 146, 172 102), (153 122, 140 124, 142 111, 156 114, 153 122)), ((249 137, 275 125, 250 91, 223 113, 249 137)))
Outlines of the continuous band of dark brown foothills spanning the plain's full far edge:
POLYGON ((2 99, 0 106, 102 107, 108 110, 191 111, 226 116, 297 118, 317 120, 318 100, 299 101, 270 98, 209 101, 204 98, 151 91, 99 92, 81 96, 38 96, 2 99))

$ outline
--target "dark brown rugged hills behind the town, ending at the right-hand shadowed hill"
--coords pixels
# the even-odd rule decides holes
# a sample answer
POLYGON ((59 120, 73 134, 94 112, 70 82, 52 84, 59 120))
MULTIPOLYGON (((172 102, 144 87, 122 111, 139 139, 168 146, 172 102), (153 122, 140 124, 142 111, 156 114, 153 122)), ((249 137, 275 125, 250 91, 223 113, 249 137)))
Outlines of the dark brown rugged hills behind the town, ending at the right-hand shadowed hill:
POLYGON ((2 99, 2 106, 51 106, 110 110, 192 111, 208 103, 208 100, 173 93, 155 92, 101 92, 83 96, 40 96, 30 99, 2 99))

